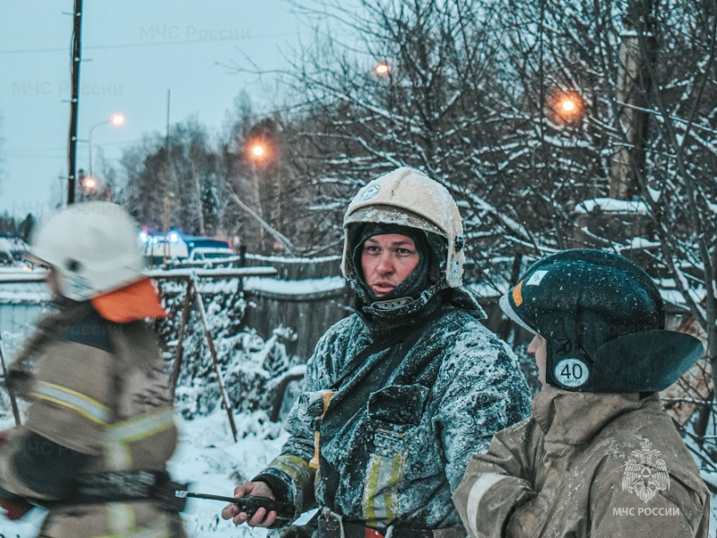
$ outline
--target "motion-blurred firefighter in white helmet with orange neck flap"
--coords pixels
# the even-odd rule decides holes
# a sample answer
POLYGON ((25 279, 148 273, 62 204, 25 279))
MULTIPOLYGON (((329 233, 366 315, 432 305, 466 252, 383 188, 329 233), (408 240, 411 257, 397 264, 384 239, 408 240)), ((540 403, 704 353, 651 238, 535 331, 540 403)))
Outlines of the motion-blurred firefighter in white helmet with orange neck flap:
POLYGON ((13 518, 28 500, 48 508, 39 536, 185 536, 161 501, 177 428, 145 323, 166 313, 143 276, 138 231, 118 205, 90 202, 51 214, 30 240, 56 310, 9 368, 29 405, 2 436, 0 497, 13 518))

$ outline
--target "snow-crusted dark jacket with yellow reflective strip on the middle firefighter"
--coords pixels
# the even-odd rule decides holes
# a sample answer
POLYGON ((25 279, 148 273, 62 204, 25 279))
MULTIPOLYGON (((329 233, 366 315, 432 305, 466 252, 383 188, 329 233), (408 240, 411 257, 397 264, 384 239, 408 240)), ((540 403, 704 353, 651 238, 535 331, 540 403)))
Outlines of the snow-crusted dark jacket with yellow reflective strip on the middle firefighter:
MULTIPOLYGON (((371 526, 461 525, 451 492, 469 457, 484 451, 493 433, 530 412, 530 394, 513 352, 479 323, 484 314, 475 308, 469 313, 443 303, 390 377, 361 396, 352 417, 327 431, 341 395, 360 386, 374 365, 391 360, 401 344, 369 356, 341 384, 321 423, 318 473, 309 467, 313 417, 295 405, 281 456, 255 480, 274 490, 277 481, 285 484, 297 516, 318 504, 371 526), (338 476, 333 488, 329 472, 338 476)), ((358 315, 333 325, 308 361, 306 394, 332 387, 369 343, 358 315)))

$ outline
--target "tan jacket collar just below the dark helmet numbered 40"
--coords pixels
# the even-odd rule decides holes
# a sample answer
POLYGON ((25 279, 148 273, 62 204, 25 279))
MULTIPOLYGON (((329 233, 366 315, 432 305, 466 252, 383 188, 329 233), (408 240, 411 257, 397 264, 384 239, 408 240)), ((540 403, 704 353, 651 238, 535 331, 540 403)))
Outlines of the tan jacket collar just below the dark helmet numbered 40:
POLYGON ((578 393, 545 386, 532 401, 532 416, 549 443, 579 445, 619 415, 644 405, 657 405, 658 395, 643 400, 639 393, 578 393))

